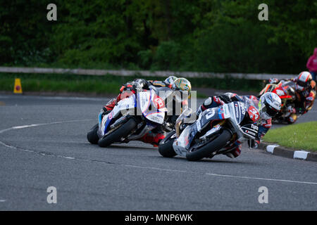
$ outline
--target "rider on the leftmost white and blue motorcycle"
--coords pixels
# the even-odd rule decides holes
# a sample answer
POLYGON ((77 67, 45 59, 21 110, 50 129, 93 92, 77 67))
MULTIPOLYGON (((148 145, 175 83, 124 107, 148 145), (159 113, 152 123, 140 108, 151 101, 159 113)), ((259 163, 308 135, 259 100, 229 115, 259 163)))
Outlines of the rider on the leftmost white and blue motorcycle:
MULTIPOLYGON (((188 91, 187 93, 190 94, 192 86, 190 82, 183 78, 177 78, 175 76, 170 76, 166 78, 164 81, 151 81, 146 79, 135 79, 132 82, 128 82, 121 86, 120 94, 117 98, 111 99, 102 110, 104 111, 104 115, 108 114, 113 110, 116 103, 118 103, 123 98, 128 98, 132 94, 137 93, 137 91, 142 91, 143 89, 149 90, 150 86, 155 87, 168 87, 173 91, 188 91)), ((187 100, 182 101, 182 105, 187 105, 187 100)), ((150 131, 149 133, 145 134, 139 141, 143 141, 144 143, 151 143, 154 147, 159 146, 159 142, 165 138, 163 134, 163 130, 161 127, 157 127, 154 130, 150 131)))

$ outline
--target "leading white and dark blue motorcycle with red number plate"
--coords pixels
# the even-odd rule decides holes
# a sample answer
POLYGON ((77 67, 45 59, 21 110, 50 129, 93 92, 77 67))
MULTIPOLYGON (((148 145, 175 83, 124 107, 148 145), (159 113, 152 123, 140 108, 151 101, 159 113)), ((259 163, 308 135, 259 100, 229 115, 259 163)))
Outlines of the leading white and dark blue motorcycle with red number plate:
POLYGON ((255 140, 259 132, 259 110, 238 101, 204 110, 197 120, 192 118, 190 108, 178 117, 175 129, 159 145, 163 157, 212 158, 228 153, 235 143, 255 140))

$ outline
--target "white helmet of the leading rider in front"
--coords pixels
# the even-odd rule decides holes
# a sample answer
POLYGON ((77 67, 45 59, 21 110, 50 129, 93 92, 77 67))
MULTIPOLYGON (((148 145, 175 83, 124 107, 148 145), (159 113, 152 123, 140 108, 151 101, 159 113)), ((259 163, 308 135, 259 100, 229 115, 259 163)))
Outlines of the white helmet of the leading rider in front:
POLYGON ((271 119, 280 111, 281 104, 282 101, 277 94, 273 92, 263 94, 259 101, 260 117, 264 120, 271 119))

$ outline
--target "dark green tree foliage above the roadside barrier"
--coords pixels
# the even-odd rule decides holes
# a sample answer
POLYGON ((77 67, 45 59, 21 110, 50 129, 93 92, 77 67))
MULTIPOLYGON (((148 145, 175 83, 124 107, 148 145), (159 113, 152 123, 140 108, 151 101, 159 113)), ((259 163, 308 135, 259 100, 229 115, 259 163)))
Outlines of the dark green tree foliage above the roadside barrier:
POLYGON ((317 0, 0 0, 0 65, 210 72, 305 70, 317 0))

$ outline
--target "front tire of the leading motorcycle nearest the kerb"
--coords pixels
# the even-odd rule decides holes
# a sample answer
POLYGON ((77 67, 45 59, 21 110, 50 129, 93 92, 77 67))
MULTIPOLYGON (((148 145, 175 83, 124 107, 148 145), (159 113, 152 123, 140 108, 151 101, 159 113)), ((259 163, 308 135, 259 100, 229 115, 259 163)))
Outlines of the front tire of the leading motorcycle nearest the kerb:
POLYGON ((189 161, 197 161, 202 158, 207 158, 212 155, 216 150, 220 150, 225 144, 230 141, 232 134, 227 129, 223 129, 222 133, 216 137, 213 141, 206 143, 205 146, 194 150, 193 152, 187 152, 186 158, 189 161))

